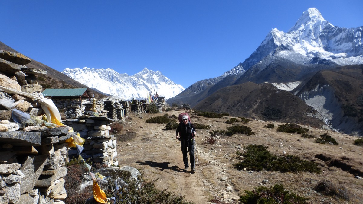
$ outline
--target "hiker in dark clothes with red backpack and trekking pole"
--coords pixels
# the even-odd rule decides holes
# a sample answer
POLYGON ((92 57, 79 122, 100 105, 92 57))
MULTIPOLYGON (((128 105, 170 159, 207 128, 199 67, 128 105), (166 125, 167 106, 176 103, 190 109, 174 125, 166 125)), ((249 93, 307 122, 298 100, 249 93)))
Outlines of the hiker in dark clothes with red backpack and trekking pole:
POLYGON ((189 168, 188 164, 188 151, 190 157, 190 165, 192 171, 195 171, 195 164, 194 164, 194 144, 193 139, 196 135, 196 130, 194 125, 191 124, 189 117, 187 115, 183 115, 181 117, 183 122, 179 123, 178 128, 176 129, 176 139, 181 141, 181 151, 183 152, 183 162, 184 162, 184 169, 183 171, 187 171, 189 168), (178 136, 179 133, 179 136, 178 136))

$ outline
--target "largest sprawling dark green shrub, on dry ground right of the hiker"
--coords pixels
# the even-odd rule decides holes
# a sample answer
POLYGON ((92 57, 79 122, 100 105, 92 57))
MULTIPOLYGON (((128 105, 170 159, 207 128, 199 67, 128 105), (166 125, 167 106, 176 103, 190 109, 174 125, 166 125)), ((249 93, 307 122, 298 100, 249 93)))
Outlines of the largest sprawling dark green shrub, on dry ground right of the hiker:
POLYGON ((246 152, 237 151, 238 157, 245 159, 242 162, 234 164, 236 168, 247 168, 249 170, 261 171, 280 171, 280 172, 301 172, 309 171, 320 174, 321 168, 315 162, 300 159, 294 155, 273 155, 264 145, 248 145, 244 147, 246 152))

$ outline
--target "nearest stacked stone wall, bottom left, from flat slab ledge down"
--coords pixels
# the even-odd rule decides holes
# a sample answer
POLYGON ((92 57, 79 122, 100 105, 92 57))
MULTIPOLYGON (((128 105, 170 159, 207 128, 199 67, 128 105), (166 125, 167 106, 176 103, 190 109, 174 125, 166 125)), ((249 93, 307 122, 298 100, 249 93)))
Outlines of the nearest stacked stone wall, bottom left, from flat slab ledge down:
POLYGON ((0 203, 64 203, 71 136, 69 127, 0 132, 0 203))

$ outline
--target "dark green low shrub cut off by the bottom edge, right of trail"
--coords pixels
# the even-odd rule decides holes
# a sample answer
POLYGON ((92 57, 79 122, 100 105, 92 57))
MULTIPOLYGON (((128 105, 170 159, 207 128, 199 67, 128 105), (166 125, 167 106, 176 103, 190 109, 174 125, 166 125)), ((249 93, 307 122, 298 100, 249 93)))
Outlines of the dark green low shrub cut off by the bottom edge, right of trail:
POLYGON ((245 191, 246 195, 240 196, 239 201, 242 203, 296 203, 305 204, 309 200, 306 197, 301 197, 293 192, 285 191, 282 184, 275 184, 273 187, 265 186, 256 187, 252 191, 245 191))

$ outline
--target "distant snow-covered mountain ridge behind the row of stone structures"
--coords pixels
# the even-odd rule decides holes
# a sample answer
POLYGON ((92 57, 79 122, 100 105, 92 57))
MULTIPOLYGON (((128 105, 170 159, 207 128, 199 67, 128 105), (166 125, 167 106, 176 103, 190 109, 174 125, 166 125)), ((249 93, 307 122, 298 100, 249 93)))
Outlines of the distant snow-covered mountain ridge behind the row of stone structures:
POLYGON ((168 99, 184 90, 181 85, 175 84, 160 71, 147 68, 132 76, 119 74, 111 68, 65 68, 62 73, 88 87, 126 100, 146 99, 150 92, 152 95, 158 92, 159 96, 168 99))

